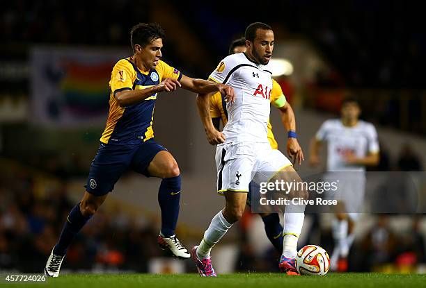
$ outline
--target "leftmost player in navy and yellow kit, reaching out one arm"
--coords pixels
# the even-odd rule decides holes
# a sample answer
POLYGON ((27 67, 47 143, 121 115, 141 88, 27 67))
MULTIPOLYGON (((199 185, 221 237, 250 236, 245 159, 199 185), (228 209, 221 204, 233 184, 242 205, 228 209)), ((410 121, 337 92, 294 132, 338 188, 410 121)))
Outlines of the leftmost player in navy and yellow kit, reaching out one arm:
POLYGON ((158 194, 161 208, 159 245, 168 248, 175 257, 190 257, 175 235, 180 207, 180 171, 173 155, 154 140, 155 101, 159 92, 173 92, 177 87, 196 93, 220 92, 230 101, 233 90, 227 85, 184 76, 161 61, 163 39, 164 30, 158 24, 141 23, 132 28, 130 42, 134 55, 119 60, 113 67, 107 126, 90 167, 86 192, 68 215, 61 237, 47 260, 47 276, 58 277, 72 239, 127 169, 162 178, 158 194))

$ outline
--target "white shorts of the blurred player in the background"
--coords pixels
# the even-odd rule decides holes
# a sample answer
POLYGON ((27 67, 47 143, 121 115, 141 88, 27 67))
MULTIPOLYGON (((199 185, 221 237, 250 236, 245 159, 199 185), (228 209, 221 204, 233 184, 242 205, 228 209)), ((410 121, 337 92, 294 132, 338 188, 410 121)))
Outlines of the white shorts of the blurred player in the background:
POLYGON ((364 172, 327 172, 324 181, 338 180, 336 192, 327 192, 325 198, 345 203, 345 210, 352 220, 363 212, 365 194, 364 172))

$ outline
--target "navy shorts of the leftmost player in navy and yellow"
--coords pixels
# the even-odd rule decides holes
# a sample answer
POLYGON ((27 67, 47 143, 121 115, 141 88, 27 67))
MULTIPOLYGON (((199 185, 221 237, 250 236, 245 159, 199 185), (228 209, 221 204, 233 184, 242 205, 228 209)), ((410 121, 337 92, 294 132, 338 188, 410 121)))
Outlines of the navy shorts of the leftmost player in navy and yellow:
POLYGON ((120 176, 132 169, 149 177, 148 165, 159 151, 167 151, 153 138, 139 145, 116 145, 101 143, 90 165, 87 192, 102 196, 111 192, 120 176))

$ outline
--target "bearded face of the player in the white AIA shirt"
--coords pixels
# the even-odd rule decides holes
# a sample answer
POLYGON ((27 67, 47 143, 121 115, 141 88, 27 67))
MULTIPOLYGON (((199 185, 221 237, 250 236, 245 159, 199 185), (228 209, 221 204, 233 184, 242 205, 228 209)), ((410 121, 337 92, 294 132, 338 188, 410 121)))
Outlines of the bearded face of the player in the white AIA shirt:
POLYGON ((251 44, 253 57, 262 65, 267 65, 271 60, 274 50, 274 32, 272 30, 258 29, 256 37, 251 44))

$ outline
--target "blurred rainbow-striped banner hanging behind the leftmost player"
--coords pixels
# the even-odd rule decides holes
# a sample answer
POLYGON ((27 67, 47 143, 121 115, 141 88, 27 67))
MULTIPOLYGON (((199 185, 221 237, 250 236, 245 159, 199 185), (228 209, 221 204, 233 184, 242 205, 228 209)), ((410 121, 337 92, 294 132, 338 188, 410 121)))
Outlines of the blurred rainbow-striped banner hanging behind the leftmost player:
POLYGON ((107 119, 113 65, 129 52, 38 46, 31 51, 31 122, 93 126, 107 119))

